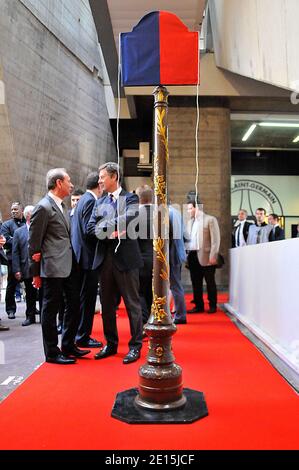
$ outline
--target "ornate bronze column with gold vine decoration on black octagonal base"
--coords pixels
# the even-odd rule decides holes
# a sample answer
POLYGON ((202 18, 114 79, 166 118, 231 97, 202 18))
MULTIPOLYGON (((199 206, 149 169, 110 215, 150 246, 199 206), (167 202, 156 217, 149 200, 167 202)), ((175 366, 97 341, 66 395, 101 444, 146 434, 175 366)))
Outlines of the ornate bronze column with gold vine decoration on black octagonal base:
POLYGON ((118 393, 112 416, 127 423, 187 423, 207 416, 202 392, 183 389, 182 368, 175 364, 169 310, 169 213, 167 206, 168 91, 154 90, 154 240, 153 304, 144 330, 147 362, 139 369, 139 387, 118 393))

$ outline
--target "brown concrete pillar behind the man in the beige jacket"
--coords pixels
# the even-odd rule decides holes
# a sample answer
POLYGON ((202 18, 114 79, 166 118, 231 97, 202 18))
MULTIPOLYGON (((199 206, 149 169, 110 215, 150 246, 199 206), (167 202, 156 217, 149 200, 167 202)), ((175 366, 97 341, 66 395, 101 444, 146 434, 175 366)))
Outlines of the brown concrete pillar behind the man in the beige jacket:
MULTIPOLYGON (((196 109, 169 109, 169 195, 174 203, 186 203, 188 191, 195 190, 196 109)), ((221 253, 225 267, 217 271, 217 282, 228 285, 228 249, 231 247, 230 110, 223 100, 200 102, 198 194, 204 211, 217 217, 221 231, 221 253)), ((183 279, 188 284, 189 276, 183 279)), ((190 283, 189 283, 190 285, 190 283)))

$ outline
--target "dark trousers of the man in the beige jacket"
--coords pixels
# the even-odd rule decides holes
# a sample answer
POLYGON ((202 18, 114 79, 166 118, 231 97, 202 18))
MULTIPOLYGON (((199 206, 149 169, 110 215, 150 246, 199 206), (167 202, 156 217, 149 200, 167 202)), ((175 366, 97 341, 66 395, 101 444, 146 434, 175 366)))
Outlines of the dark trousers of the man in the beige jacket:
POLYGON ((198 261, 197 252, 190 251, 188 254, 188 265, 193 288, 194 302, 199 310, 204 309, 203 280, 207 284, 208 299, 211 308, 217 305, 217 286, 215 282, 215 266, 201 266, 198 261))

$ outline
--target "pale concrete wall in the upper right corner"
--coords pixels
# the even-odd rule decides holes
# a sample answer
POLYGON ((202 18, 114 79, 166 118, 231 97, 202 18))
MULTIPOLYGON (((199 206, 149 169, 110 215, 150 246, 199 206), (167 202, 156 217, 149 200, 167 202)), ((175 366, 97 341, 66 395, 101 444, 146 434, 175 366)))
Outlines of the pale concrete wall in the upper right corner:
POLYGON ((299 90, 298 0, 209 0, 216 63, 299 90))

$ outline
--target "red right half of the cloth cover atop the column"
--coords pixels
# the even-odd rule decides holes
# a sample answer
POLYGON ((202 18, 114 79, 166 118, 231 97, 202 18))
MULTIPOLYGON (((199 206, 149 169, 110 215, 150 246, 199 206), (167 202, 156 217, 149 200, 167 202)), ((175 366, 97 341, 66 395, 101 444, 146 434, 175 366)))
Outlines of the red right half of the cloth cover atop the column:
POLYGON ((196 85, 198 33, 172 13, 160 11, 160 80, 162 85, 196 85))

